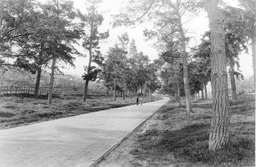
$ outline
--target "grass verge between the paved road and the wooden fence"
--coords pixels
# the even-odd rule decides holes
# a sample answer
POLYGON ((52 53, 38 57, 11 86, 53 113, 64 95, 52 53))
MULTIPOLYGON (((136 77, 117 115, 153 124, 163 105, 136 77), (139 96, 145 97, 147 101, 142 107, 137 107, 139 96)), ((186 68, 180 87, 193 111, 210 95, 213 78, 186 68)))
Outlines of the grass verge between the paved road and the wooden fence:
MULTIPOLYGON (((160 99, 153 97, 143 103, 160 99)), ((135 99, 117 98, 114 101, 113 97, 105 96, 89 96, 86 103, 82 103, 81 96, 56 96, 52 105, 47 101, 47 96, 39 99, 31 95, 0 96, 0 129, 136 104, 135 99)))

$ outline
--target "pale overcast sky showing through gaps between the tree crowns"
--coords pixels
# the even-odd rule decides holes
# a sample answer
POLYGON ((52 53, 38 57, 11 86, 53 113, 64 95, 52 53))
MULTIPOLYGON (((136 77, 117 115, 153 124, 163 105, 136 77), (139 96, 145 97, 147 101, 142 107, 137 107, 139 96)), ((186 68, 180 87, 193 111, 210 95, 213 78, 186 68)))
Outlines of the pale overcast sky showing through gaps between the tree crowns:
MULTIPOLYGON (((233 0, 232 1, 226 0, 225 2, 234 4, 233 0)), ((125 3, 124 0, 103 0, 103 3, 99 5, 100 6, 99 13, 104 12, 102 14, 104 17, 104 21, 102 23, 102 26, 99 28, 99 31, 104 32, 108 29, 110 30, 110 37, 109 39, 106 40, 107 42, 100 43, 101 53, 104 55, 106 51, 108 51, 109 47, 114 45, 114 43, 117 40, 117 36, 127 32, 130 37, 130 41, 133 38, 135 39, 138 52, 142 51, 144 55, 147 55, 148 57, 150 57, 151 60, 157 59, 158 52, 156 51, 156 49, 154 49, 151 46, 151 44, 154 41, 145 42, 143 37, 143 30, 145 29, 144 27, 150 26, 150 23, 147 22, 145 23, 145 25, 141 25, 140 27, 136 27, 133 29, 125 28, 125 27, 117 27, 115 29, 112 29, 112 25, 110 25, 110 22, 113 20, 110 15, 118 13, 120 7, 124 6, 124 3, 125 3)), ((80 9, 82 12, 86 9, 83 0, 75 0, 74 7, 80 9)), ((208 18, 206 16, 206 13, 202 12, 202 14, 199 17, 196 17, 195 19, 187 22, 185 25, 185 28, 189 28, 189 31, 193 32, 193 34, 189 34, 189 36, 194 36, 196 38, 196 40, 193 40, 189 44, 189 46, 193 47, 196 44, 199 44, 201 35, 203 35, 205 31, 209 30, 208 18)), ((86 52, 82 47, 79 47, 78 50, 82 53, 86 52)), ((245 75, 246 78, 253 75, 251 54, 242 54, 240 56, 240 64, 241 64, 240 69, 242 70, 242 73, 245 75)), ((88 65, 88 57, 76 58, 75 65, 76 65, 75 69, 70 67, 64 70, 65 73, 76 74, 81 76, 83 74, 83 66, 88 65)))

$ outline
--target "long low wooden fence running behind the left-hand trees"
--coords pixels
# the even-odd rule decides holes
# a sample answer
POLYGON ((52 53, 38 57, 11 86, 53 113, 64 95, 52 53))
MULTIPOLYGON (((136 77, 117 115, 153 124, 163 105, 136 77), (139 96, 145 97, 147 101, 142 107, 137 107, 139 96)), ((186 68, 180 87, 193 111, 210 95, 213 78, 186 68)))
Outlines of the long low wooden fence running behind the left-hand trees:
MULTIPOLYGON (((34 88, 20 88, 20 87, 0 87, 0 95, 3 94, 34 94, 35 89, 34 88)), ((39 89, 38 94, 39 95, 48 95, 49 89, 42 88, 39 89)), ((79 95, 83 94, 83 91, 78 90, 63 90, 63 89, 53 89, 53 94, 55 95, 79 95)), ((106 91, 88 91, 88 95, 104 95, 106 94, 106 91)), ((109 92, 109 95, 112 93, 109 92)))

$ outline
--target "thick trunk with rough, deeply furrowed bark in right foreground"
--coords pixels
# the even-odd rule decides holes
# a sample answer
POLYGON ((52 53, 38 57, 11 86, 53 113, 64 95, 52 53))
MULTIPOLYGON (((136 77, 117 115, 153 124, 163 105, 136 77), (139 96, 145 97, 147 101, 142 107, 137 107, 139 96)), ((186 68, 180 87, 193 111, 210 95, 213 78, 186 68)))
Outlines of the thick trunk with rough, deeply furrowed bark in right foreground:
POLYGON ((225 33, 218 0, 205 0, 211 41, 211 85, 213 116, 209 134, 209 150, 218 150, 228 143, 229 101, 225 57, 225 33))

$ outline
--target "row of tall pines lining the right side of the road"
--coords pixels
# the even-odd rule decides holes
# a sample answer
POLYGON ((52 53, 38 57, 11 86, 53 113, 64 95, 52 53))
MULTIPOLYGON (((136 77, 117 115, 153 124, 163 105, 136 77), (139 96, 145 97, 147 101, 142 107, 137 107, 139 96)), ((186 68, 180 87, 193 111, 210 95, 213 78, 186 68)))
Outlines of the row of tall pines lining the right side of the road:
POLYGON ((242 50, 247 50, 248 43, 252 48, 255 80, 255 1, 241 0, 239 3, 241 8, 219 8, 217 0, 133 0, 129 1, 122 13, 115 16, 114 26, 134 26, 145 20, 154 22, 154 29, 145 30, 144 35, 148 39, 158 40, 156 46, 162 54, 156 63, 164 67, 161 76, 164 84, 169 86, 166 89, 173 89, 179 103, 179 96, 184 93, 188 112, 193 112, 190 94, 202 90, 211 81, 211 151, 228 143, 229 100, 226 67, 229 66, 233 99, 236 99, 234 76, 241 74, 234 69, 235 66, 239 67, 238 55, 242 50), (190 38, 183 26, 201 9, 207 11, 210 32, 204 35, 202 43, 191 50, 192 54, 189 55, 186 46, 190 38), (184 87, 184 92, 180 91, 180 87, 184 87))

